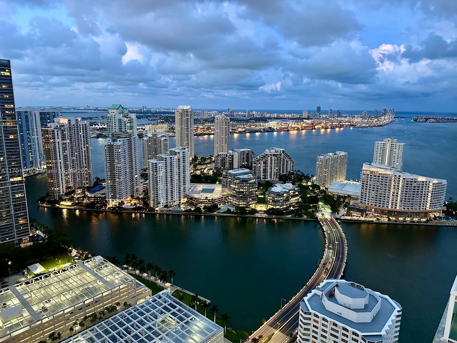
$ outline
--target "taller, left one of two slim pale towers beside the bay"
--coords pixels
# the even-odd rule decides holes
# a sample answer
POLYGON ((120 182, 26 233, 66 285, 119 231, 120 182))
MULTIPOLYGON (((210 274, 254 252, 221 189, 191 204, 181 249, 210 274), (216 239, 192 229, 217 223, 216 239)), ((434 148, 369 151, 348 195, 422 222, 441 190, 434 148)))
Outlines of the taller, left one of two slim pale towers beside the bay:
POLYGON ((175 110, 176 146, 189 150, 189 159, 194 158, 194 111, 192 106, 180 105, 175 110))

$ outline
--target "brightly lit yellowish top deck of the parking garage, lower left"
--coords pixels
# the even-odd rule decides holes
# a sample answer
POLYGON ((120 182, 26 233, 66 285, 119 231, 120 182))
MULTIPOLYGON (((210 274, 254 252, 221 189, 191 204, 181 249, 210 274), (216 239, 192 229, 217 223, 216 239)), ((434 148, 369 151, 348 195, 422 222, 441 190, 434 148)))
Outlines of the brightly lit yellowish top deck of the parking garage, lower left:
POLYGON ((97 256, 0 290, 0 341, 136 279, 97 256))

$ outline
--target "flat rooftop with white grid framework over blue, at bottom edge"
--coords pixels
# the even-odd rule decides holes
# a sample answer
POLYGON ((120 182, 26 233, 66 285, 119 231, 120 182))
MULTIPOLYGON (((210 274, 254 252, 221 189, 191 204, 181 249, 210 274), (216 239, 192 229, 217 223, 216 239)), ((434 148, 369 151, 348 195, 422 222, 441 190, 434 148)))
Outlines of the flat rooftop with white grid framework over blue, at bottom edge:
POLYGON ((222 327, 163 290, 64 343, 200 343, 219 334, 222 338, 222 332, 222 327))

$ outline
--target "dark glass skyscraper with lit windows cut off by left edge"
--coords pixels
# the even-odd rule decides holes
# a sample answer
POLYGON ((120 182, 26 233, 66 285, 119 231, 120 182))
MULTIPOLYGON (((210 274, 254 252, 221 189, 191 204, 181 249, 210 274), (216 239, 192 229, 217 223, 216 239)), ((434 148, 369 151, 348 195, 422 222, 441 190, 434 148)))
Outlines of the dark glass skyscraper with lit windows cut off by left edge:
POLYGON ((3 245, 16 244, 30 236, 9 59, 0 59, 0 85, 0 244, 3 245))

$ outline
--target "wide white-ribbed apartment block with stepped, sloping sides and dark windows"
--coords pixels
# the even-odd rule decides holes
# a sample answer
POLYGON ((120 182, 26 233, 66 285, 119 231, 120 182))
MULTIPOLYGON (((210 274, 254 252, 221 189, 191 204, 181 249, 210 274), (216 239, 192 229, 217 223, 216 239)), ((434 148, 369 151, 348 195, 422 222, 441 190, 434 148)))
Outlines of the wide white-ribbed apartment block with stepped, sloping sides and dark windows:
POLYGON ((286 150, 270 148, 255 157, 252 169, 259 180, 278 181, 281 175, 294 170, 294 163, 286 150))

